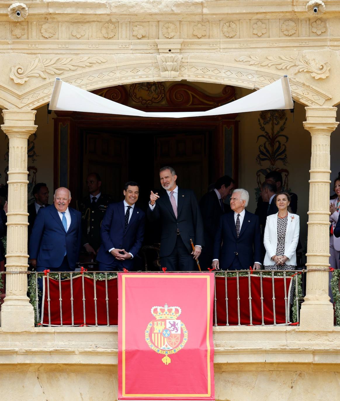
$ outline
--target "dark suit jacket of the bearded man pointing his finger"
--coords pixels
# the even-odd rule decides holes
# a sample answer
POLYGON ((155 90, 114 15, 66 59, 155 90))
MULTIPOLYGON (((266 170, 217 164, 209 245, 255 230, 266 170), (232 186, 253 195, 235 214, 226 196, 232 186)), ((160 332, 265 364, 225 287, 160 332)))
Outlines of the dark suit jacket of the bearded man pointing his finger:
POLYGON ((190 238, 194 245, 204 246, 203 221, 197 199, 193 191, 178 188, 177 219, 173 213, 167 192, 161 194, 153 211, 147 208, 151 221, 161 219, 161 249, 159 256, 169 256, 175 248, 177 229, 187 250, 191 253, 190 238))

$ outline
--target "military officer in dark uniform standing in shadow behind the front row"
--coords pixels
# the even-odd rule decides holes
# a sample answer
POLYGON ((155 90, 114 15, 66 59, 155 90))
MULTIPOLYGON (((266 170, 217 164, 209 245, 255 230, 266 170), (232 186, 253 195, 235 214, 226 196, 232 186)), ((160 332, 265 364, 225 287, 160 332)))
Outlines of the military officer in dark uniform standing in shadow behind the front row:
POLYGON ((113 202, 111 196, 102 194, 102 180, 98 173, 91 173, 86 178, 88 196, 77 201, 77 210, 81 212, 82 245, 86 252, 97 254, 101 244, 100 226, 108 205, 113 202))

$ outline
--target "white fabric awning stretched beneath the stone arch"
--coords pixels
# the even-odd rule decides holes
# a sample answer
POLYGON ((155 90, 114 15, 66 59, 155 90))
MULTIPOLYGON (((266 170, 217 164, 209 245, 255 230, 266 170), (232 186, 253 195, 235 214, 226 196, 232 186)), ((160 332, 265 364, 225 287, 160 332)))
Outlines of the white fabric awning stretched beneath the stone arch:
POLYGON ((50 110, 84 111, 87 113, 161 118, 201 117, 244 113, 246 111, 292 109, 293 107, 287 75, 256 92, 250 93, 250 95, 207 111, 149 113, 105 99, 104 97, 63 82, 59 78, 55 80, 49 104, 50 110))

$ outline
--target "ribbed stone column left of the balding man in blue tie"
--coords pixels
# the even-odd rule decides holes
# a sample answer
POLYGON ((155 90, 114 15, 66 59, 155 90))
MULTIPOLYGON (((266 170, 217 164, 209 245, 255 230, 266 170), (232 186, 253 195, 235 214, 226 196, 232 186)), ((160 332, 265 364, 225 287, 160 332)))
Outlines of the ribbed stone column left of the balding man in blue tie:
POLYGON ((27 297, 27 140, 35 132, 35 110, 3 110, 1 126, 9 138, 6 298, 1 308, 3 331, 34 327, 33 306, 27 297))

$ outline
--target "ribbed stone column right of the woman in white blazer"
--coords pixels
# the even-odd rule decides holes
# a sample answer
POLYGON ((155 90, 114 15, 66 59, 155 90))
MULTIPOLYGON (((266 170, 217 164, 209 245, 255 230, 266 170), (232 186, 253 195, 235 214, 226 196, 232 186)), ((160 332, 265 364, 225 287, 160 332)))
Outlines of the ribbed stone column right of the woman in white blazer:
POLYGON ((307 288, 301 306, 300 327, 332 330, 333 306, 328 296, 330 134, 339 124, 336 107, 306 107, 303 126, 311 133, 309 180, 307 288))

